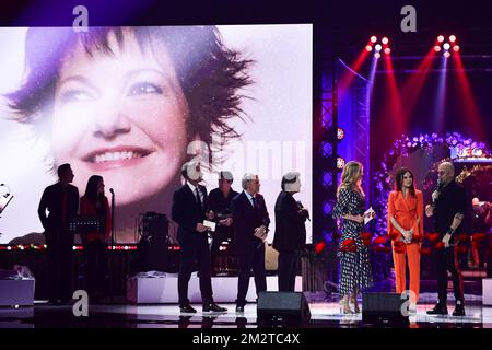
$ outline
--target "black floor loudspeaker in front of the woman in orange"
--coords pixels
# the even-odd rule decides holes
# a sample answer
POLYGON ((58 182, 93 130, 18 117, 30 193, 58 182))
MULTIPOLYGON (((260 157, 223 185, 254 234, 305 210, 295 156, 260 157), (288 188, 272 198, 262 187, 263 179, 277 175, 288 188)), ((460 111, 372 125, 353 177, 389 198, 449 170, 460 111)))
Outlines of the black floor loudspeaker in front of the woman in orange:
POLYGON ((407 307, 402 307, 408 299, 401 299, 399 293, 362 293, 362 322, 370 324, 410 323, 407 307), (402 311, 403 310, 403 311, 402 311))

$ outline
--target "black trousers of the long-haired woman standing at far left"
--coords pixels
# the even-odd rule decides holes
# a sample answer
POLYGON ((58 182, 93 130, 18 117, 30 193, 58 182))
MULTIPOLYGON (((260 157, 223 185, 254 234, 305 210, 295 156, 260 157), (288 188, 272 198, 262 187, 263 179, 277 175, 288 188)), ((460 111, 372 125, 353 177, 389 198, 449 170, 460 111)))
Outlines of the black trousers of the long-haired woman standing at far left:
POLYGON ((107 244, 102 241, 89 241, 85 250, 85 281, 90 298, 104 293, 107 271, 107 244))

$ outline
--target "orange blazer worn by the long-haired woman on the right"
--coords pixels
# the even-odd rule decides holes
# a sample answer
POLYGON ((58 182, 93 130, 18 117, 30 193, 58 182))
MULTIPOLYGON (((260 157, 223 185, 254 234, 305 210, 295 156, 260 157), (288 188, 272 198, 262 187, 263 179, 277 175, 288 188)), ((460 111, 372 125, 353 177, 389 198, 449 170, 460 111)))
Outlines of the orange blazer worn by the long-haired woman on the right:
POLYGON ((393 225, 391 218, 395 218, 405 230, 413 229, 413 234, 423 234, 422 191, 415 189, 415 197, 409 192, 407 198, 399 190, 391 191, 388 198, 388 233, 399 233, 393 225))

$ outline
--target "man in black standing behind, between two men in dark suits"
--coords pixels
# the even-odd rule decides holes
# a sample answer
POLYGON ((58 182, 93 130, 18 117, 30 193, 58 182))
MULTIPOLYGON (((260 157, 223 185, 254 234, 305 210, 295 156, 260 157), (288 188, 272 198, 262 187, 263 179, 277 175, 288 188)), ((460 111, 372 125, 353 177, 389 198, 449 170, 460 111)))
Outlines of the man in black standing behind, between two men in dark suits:
POLYGON ((227 252, 232 252, 234 248, 234 229, 233 219, 231 212, 231 201, 237 196, 237 192, 232 189, 233 175, 231 172, 219 173, 219 187, 214 188, 209 194, 209 206, 215 214, 215 221, 218 223, 215 232, 213 233, 212 241, 212 267, 216 265, 220 256, 219 248, 222 242, 229 241, 227 252))

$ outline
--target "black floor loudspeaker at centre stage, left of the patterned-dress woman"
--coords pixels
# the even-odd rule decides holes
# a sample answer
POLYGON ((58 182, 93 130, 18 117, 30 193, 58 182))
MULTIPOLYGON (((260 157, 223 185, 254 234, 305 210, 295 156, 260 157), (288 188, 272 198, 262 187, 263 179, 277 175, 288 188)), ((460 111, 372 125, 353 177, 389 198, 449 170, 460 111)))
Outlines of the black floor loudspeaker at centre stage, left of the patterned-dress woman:
POLYGON ((301 292, 260 292, 257 303, 258 320, 308 322, 309 305, 301 292))

